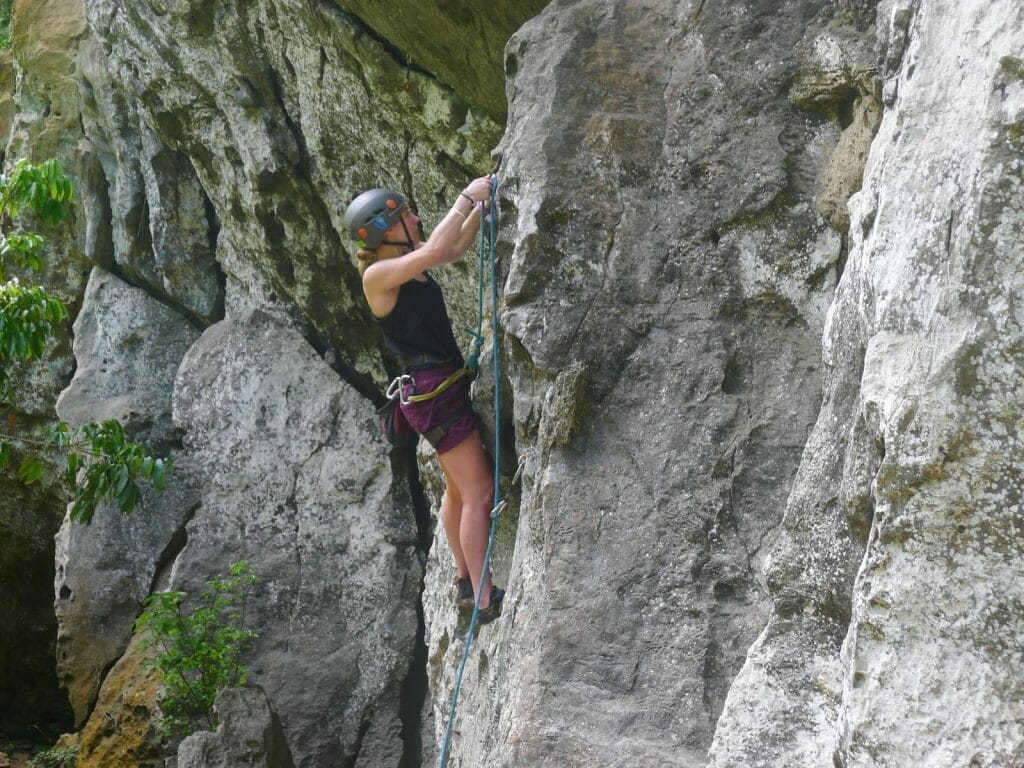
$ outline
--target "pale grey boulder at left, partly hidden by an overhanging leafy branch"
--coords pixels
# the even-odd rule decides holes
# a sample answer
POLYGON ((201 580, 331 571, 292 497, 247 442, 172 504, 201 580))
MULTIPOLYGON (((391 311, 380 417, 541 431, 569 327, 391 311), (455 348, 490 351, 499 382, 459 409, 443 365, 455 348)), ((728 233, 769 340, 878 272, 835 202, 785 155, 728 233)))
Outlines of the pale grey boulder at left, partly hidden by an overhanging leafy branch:
MULTIPOLYGON (((75 321, 75 378, 57 401, 71 424, 119 419, 131 439, 172 449, 171 387, 199 333, 145 292, 96 268, 75 321)), ((57 671, 79 724, 124 652, 161 562, 173 556, 197 506, 187 458, 177 481, 147 495, 130 517, 97 510, 88 526, 66 519, 56 537, 57 671)))

